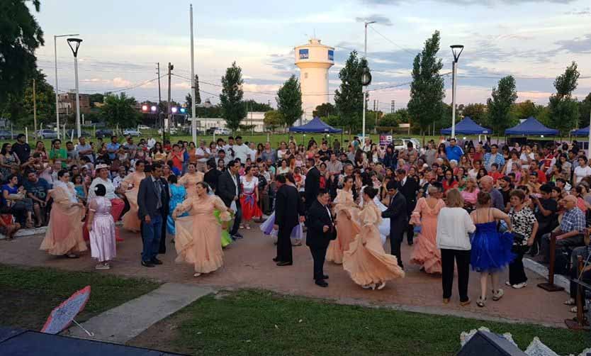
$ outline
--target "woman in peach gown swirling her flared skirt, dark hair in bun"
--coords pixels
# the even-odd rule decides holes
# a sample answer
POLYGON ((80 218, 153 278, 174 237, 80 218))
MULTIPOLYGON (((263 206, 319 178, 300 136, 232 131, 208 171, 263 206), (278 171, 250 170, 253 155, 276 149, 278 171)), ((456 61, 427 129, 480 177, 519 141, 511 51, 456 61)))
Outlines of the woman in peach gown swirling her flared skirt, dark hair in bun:
POLYGON ((390 279, 404 277, 396 257, 385 253, 378 226, 381 211, 373 202, 378 190, 365 187, 364 207, 359 213, 359 233, 344 252, 343 268, 356 284, 366 289, 383 289, 390 279))

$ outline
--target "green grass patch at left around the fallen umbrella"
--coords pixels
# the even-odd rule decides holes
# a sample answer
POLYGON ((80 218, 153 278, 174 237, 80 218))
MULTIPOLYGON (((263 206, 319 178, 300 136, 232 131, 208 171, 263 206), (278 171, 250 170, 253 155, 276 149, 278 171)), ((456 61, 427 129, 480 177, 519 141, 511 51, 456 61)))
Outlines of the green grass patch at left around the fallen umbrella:
POLYGON ((38 330, 52 308, 87 285, 91 286, 90 299, 77 321, 159 287, 158 283, 147 279, 0 265, 0 325, 38 330))

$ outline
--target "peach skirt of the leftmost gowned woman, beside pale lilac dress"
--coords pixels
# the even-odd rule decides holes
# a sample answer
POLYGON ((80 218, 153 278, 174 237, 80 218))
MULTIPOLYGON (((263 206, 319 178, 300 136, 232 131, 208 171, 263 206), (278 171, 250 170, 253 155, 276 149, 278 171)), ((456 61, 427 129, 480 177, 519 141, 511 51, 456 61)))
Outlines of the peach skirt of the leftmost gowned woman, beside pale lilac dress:
POLYGON ((39 249, 56 256, 88 250, 82 235, 83 215, 84 209, 79 206, 64 209, 54 204, 47 232, 39 249))

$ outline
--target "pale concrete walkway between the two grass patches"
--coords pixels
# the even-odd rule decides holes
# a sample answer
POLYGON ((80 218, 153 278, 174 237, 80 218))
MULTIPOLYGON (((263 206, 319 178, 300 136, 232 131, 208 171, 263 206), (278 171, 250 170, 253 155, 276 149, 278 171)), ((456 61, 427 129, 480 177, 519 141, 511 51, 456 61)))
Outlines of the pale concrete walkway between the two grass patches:
POLYGON ((83 323, 82 326, 94 333, 94 336, 89 337, 75 324, 72 324, 64 335, 125 344, 158 321, 210 293, 213 293, 213 289, 209 287, 165 283, 148 294, 105 311, 83 323))

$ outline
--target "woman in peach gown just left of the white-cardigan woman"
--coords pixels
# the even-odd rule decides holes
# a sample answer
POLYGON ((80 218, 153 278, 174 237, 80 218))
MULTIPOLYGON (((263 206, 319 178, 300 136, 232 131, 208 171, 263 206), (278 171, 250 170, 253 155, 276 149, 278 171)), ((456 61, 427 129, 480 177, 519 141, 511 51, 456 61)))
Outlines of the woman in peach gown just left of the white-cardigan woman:
POLYGON ((429 185, 429 196, 417 201, 415 211, 410 216, 410 223, 421 226, 415 248, 410 255, 410 263, 420 265, 427 273, 441 273, 441 251, 437 248, 437 216, 444 206, 440 189, 429 185))

